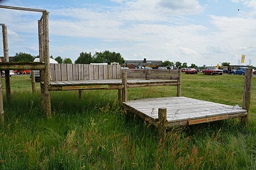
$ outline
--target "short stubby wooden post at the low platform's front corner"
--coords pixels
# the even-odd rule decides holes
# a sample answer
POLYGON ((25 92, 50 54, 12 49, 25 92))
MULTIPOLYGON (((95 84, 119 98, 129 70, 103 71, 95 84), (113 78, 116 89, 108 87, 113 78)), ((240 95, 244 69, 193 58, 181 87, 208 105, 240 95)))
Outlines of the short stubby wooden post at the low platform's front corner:
POLYGON ((166 137, 166 127, 167 127, 167 109, 158 109, 158 132, 159 136, 164 139, 166 137))

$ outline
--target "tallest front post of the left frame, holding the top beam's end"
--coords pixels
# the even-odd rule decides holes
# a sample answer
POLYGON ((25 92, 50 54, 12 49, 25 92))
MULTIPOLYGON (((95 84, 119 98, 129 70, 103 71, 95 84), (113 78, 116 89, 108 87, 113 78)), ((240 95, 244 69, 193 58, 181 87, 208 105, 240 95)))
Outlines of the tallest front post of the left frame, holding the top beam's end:
POLYGON ((52 117, 51 113, 51 92, 49 91, 49 85, 51 83, 50 80, 50 63, 49 63, 49 25, 48 25, 48 17, 49 12, 44 11, 43 12, 43 32, 44 32, 44 63, 46 65, 45 69, 45 79, 44 84, 45 85, 45 94, 46 94, 46 115, 48 118, 52 117))

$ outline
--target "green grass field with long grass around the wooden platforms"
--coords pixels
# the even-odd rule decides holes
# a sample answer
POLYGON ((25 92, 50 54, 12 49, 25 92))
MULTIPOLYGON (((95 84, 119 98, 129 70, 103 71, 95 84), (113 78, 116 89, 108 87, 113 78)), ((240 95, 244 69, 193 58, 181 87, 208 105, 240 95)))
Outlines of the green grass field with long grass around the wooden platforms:
MULTIPOLYGON (((181 76, 181 95, 242 106, 243 76, 181 76)), ((4 78, 2 78, 4 84, 4 78)), ((239 119, 157 129, 122 111, 116 90, 51 92, 52 118, 40 109, 28 75, 11 77, 0 128, 0 169, 255 169, 256 77, 249 122, 239 119)), ((3 86, 5 88, 5 86, 3 86)), ((3 90, 5 95, 5 90, 3 90)), ((129 89, 129 100, 175 96, 176 87, 129 89)), ((4 96, 5 98, 5 96, 4 96)))

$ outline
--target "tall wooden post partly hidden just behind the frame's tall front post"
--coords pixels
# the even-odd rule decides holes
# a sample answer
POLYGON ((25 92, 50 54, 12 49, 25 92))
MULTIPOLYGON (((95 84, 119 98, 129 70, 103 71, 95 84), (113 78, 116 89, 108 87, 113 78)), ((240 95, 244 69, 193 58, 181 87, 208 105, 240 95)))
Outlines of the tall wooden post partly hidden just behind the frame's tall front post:
MULTIPOLYGON (((38 41, 39 41, 39 58, 40 62, 44 62, 44 34, 43 34, 43 22, 42 20, 38 20, 38 41)), ((40 70, 40 82, 44 82, 44 70, 40 70)), ((46 101, 46 95, 44 93, 46 84, 40 84, 40 90, 41 90, 41 107, 44 109, 44 112, 46 112, 46 104, 44 101, 46 101)))

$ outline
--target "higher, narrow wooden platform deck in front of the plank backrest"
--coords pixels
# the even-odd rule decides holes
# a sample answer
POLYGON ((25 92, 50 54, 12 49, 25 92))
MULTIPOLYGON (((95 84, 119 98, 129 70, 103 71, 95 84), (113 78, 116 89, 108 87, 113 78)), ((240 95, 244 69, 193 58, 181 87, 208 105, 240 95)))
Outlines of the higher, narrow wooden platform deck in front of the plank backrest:
MULTIPOLYGON (((127 88, 170 86, 173 84, 177 84, 177 82, 178 80, 127 79, 127 88)), ((123 89, 123 83, 121 79, 67 80, 67 81, 52 81, 49 86, 50 91, 86 90, 86 89, 123 89)))

